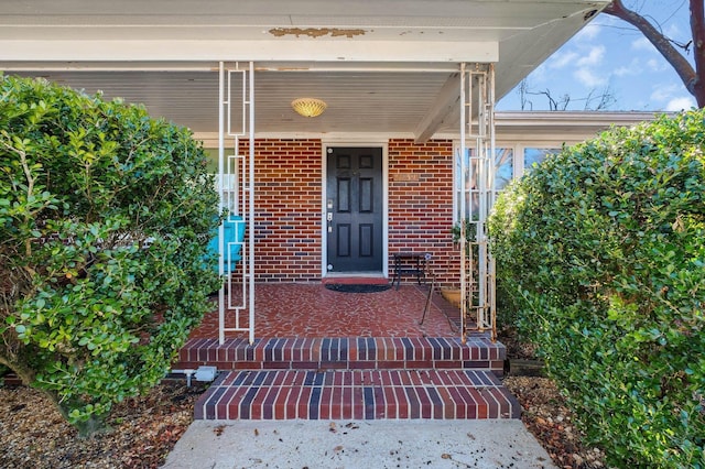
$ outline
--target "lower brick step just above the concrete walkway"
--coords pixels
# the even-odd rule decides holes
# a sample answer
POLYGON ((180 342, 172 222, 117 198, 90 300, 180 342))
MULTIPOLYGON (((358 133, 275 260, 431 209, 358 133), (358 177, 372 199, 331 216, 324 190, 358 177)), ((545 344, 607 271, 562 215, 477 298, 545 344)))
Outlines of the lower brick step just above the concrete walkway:
POLYGON ((196 419, 519 418, 517 400, 488 371, 267 370, 221 373, 196 419))

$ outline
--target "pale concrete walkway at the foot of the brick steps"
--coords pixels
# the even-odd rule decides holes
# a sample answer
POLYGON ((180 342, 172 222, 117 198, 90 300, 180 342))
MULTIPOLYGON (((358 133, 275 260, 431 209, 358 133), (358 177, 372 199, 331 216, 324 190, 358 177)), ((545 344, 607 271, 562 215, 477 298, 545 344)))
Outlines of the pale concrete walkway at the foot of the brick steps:
POLYGON ((196 421, 167 469, 555 468, 521 421, 196 421))

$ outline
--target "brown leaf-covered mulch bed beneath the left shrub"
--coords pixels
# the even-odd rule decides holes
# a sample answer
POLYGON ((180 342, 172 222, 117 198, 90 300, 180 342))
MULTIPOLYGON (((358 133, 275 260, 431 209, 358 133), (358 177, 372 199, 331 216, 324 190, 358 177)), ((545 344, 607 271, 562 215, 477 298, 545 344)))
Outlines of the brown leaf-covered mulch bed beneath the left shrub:
POLYGON ((164 382, 117 405, 107 433, 82 439, 41 392, 0 388, 3 468, 158 468, 193 421, 202 385, 164 382))

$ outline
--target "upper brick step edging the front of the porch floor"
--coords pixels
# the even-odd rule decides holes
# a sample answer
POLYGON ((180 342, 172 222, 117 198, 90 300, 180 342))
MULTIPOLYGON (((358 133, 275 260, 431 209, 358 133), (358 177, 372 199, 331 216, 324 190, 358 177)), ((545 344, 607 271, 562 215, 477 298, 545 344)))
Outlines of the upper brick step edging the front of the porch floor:
POLYGON ((490 370, 501 375, 507 349, 485 335, 459 338, 191 339, 173 368, 218 370, 490 370))

